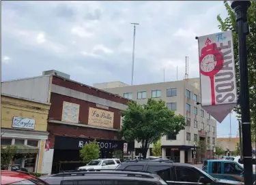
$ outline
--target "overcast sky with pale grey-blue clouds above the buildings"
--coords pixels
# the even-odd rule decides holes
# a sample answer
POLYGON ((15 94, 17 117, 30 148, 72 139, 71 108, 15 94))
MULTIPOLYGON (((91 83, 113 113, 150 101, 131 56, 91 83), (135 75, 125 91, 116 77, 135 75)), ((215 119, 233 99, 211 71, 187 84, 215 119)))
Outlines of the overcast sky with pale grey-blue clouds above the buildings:
MULTIPOLYGON (((196 36, 218 32, 223 1, 2 1, 2 81, 55 69, 92 85, 130 84, 133 27, 134 84, 199 77, 196 36)), ((236 137, 238 123, 231 116, 236 137)), ((218 124, 228 137, 229 118, 218 124)))

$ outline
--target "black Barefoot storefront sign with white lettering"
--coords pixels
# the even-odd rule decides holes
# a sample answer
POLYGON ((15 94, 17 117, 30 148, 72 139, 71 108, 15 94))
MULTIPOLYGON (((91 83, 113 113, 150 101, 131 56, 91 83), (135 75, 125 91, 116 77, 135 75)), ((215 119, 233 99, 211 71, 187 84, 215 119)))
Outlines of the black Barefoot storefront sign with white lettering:
MULTIPOLYGON (((81 138, 81 137, 63 137, 55 136, 56 150, 81 150, 81 148, 94 141, 93 138, 81 138)), ((96 139, 100 150, 123 150, 123 140, 106 140, 96 139)))

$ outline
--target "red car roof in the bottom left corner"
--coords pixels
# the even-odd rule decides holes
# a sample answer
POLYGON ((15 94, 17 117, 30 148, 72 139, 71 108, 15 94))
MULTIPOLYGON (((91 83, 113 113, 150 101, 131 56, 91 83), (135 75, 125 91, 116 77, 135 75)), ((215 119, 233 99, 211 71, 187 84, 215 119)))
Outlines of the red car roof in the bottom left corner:
POLYGON ((12 184, 14 182, 20 182, 23 180, 33 179, 32 175, 27 175, 26 173, 1 170, 1 184, 12 184))

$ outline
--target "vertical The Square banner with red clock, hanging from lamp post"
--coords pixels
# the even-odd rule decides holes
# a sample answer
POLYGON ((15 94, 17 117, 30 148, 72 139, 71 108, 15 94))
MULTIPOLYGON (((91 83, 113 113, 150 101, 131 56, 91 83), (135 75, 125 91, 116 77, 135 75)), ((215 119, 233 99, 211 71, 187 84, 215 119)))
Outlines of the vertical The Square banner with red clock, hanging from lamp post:
POLYGON ((201 106, 218 122, 236 107, 232 31, 198 37, 201 106))

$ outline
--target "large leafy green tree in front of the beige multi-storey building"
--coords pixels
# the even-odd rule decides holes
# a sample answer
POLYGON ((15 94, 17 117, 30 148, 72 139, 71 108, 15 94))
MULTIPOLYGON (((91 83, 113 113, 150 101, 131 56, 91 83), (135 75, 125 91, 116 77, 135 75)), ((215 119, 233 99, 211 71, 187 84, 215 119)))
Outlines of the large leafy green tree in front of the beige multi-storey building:
POLYGON ((145 105, 129 102, 128 109, 122 112, 122 116, 124 120, 121 133, 127 141, 136 140, 141 143, 143 158, 146 157, 150 144, 167 133, 177 135, 185 127, 185 118, 175 115, 162 100, 148 99, 145 105))

